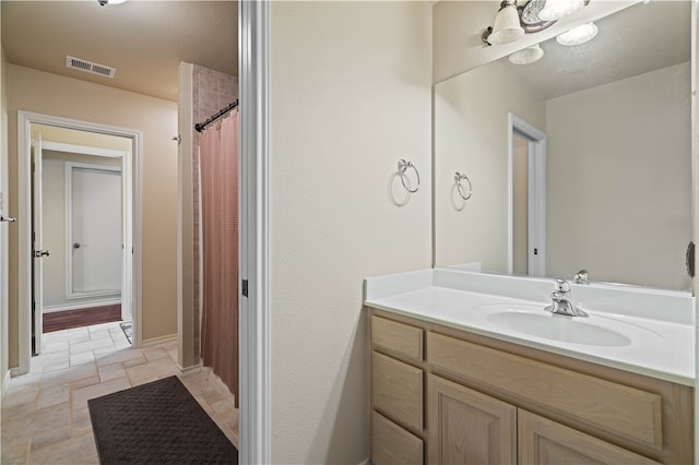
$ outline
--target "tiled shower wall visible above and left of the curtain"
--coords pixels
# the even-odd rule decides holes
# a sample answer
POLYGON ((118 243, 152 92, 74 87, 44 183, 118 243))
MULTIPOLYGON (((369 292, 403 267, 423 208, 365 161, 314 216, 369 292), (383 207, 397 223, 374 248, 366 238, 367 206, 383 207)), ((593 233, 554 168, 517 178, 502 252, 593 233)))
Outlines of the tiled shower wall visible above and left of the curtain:
MULTIPOLYGON (((211 116, 215 115, 222 108, 227 107, 238 98, 238 78, 214 71, 209 68, 194 64, 192 67, 192 117, 196 122, 204 122, 211 116)), ((200 178, 199 178, 199 132, 193 128, 192 131, 192 241, 193 241, 193 345, 194 360, 200 359, 201 349, 201 303, 203 296, 202 287, 202 266, 201 266, 201 203, 200 203, 200 178)))

